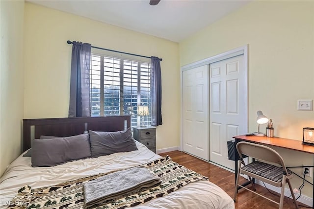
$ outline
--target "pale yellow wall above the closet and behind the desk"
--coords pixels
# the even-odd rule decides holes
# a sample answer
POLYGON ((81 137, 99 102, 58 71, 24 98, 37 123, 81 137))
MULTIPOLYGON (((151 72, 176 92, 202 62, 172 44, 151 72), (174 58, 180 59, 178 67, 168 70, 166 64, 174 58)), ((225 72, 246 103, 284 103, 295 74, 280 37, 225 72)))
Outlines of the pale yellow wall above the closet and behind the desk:
MULTIPOLYGON (((249 132, 257 131, 256 112, 262 110, 273 119, 276 136, 302 140, 303 127, 314 127, 314 111, 297 110, 297 100, 314 100, 314 1, 253 1, 181 42, 180 65, 244 45, 249 132)), ((288 165, 313 164, 312 155, 283 155, 288 165)))

